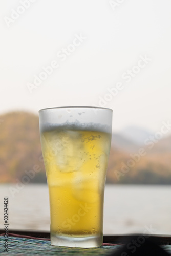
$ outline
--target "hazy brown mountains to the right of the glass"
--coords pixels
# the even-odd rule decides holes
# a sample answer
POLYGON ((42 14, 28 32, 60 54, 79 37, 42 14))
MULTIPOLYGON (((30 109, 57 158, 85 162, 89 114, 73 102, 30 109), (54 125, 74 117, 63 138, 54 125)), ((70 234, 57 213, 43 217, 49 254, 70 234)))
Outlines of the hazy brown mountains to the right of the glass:
POLYGON ((130 137, 129 133, 124 134, 129 139, 123 133, 112 135, 106 181, 122 184, 171 184, 171 136, 157 139, 152 133, 132 128, 128 129, 130 137), (131 139, 133 132, 141 137, 140 131, 142 139, 138 140, 136 136, 134 140, 131 139), (145 140, 147 143, 144 143, 145 140))

